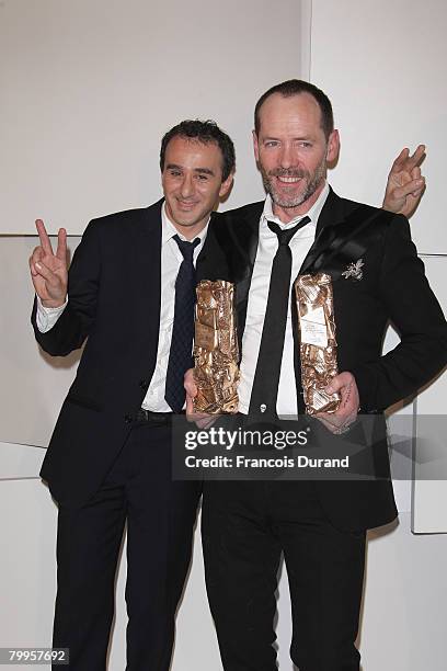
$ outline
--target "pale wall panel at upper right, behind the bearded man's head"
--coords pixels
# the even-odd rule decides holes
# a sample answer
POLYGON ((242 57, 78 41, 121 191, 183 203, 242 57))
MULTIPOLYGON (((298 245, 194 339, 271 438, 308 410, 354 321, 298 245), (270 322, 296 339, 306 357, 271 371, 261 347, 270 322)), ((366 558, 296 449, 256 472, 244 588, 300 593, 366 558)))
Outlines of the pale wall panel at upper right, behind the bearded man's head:
POLYGON ((312 2, 311 80, 331 98, 342 138, 331 182, 377 205, 392 159, 425 143, 427 191, 412 229, 426 253, 447 251, 446 25, 444 0, 312 2))

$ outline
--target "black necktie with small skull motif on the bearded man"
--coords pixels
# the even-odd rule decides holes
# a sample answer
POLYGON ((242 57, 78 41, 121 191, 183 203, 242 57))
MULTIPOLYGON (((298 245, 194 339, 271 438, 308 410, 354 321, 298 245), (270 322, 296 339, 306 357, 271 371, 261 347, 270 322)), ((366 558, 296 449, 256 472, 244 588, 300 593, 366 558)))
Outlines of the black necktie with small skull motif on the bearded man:
POLYGON ((280 363, 283 360, 284 336, 287 310, 290 300, 291 251, 289 242, 294 235, 310 221, 303 217, 294 228, 279 228, 267 221, 268 228, 278 237, 278 249, 273 259, 268 288, 267 307, 262 329, 260 353, 250 399, 249 413, 252 416, 276 416, 280 363))

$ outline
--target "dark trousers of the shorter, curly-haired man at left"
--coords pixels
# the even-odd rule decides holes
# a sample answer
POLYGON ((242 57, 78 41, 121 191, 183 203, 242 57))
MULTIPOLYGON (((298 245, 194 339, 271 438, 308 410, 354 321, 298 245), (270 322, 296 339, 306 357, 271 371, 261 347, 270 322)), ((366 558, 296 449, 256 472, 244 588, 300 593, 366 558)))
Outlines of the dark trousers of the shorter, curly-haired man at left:
MULTIPOLYGON (((127 521, 128 671, 168 671, 202 485, 172 481, 171 429, 136 425, 101 489, 59 508, 53 645, 73 671, 104 671, 127 521)), ((54 667, 60 669, 60 667, 54 667)))

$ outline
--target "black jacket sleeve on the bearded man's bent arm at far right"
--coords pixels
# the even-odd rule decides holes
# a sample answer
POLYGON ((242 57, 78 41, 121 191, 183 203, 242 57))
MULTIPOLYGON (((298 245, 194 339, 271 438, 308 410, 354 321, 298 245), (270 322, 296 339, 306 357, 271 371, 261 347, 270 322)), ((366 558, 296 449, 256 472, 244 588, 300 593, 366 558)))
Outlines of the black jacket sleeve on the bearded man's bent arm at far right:
POLYGON ((363 412, 385 410, 416 393, 447 363, 447 323, 401 215, 386 234, 380 297, 401 342, 352 371, 363 412))

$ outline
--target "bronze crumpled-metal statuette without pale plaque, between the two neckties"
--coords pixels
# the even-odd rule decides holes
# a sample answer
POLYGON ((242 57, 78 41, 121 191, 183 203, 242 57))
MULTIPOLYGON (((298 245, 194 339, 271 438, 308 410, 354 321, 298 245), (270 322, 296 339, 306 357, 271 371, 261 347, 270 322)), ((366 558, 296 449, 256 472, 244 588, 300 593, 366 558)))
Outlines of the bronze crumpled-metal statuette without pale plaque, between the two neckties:
POLYGON ((194 340, 195 412, 238 411, 239 349, 231 282, 198 283, 194 340))

